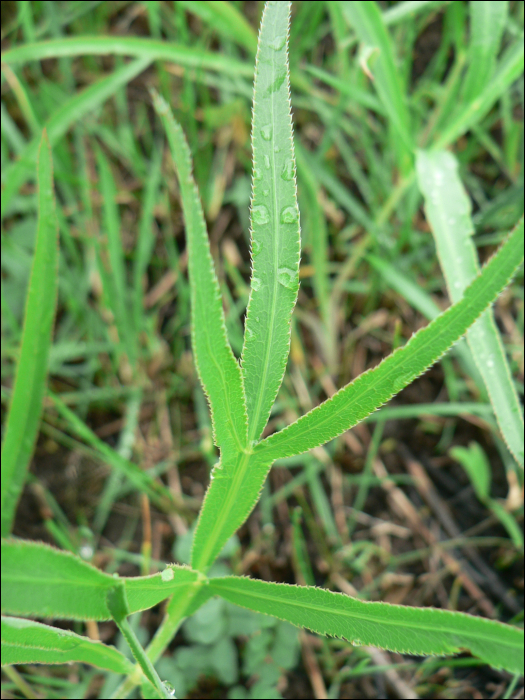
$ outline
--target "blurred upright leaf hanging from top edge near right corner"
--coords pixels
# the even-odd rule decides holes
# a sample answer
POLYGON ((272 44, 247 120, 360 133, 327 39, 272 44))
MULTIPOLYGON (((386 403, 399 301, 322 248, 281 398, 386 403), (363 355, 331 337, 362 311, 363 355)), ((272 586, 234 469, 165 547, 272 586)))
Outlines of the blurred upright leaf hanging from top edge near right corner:
POLYGON ((469 68, 463 83, 462 100, 470 102, 492 77, 496 56, 509 12, 509 3, 471 0, 469 68))

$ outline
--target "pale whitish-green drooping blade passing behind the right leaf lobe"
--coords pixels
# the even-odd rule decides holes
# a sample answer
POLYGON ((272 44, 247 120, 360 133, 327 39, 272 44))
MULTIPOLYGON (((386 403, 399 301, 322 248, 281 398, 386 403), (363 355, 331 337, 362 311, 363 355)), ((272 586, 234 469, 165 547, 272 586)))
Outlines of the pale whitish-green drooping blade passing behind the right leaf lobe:
MULTIPOLYGON (((458 302, 479 273, 470 199, 458 175, 458 162, 448 151, 419 151, 416 170, 425 197, 425 212, 451 300, 458 302)), ((467 333, 474 361, 483 377, 501 433, 523 467, 523 415, 512 382, 501 337, 491 309, 467 333)))

